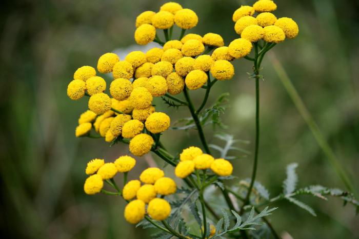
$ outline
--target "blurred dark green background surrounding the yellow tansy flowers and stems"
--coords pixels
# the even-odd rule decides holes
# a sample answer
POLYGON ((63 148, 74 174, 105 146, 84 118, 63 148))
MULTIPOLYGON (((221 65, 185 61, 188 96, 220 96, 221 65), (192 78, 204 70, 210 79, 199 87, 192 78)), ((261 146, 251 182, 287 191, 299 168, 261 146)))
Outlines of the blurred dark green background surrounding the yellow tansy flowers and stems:
MULTIPOLYGON (((0 230, 4 238, 148 238, 123 218, 124 202, 83 191, 87 161, 108 161, 128 153, 125 146, 109 148, 103 140, 75 138, 74 129, 87 101, 71 101, 67 84, 80 66, 96 66, 98 57, 134 45, 135 17, 157 11, 166 1, 3 1, 0 14, 0 230)), ((359 178, 359 4, 344 0, 275 1, 278 17, 288 16, 300 26, 299 36, 272 52, 283 64, 321 131, 358 189, 359 178)), ((254 1, 178 1, 200 18, 189 32, 220 33, 229 44, 238 36, 231 16, 242 4, 254 1)), ((162 33, 160 34, 162 37, 162 33)), ((121 51, 120 51, 121 52, 121 51)), ((217 83, 210 103, 230 93, 230 108, 222 116, 226 130, 254 141, 254 81, 251 65, 234 62, 232 81, 217 83)), ((257 179, 274 196, 281 192, 285 167, 299 163, 299 186, 344 185, 329 166, 323 151, 289 98, 269 57, 261 82, 261 143, 257 179)), ((193 93, 200 103, 204 92, 193 93)), ((208 105, 210 105, 210 103, 208 105)), ((158 105, 158 104, 157 104, 158 105)), ((172 121, 189 116, 161 104, 172 121)), ((224 130, 222 130, 224 131, 224 130)), ((212 128, 206 128, 210 143, 212 128)), ((167 131, 164 142, 175 154, 200 145, 195 131, 167 131)), ((253 144, 241 145, 253 152, 253 144)), ((156 160, 156 159, 155 159, 156 160)), ((137 161, 130 178, 151 162, 137 161)), ((235 175, 250 176, 252 156, 235 162, 235 175)), ((167 173, 173 169, 166 168, 167 173)), ((118 178, 121 181, 121 178, 118 178)), ((359 219, 350 205, 337 198, 328 202, 303 197, 317 217, 281 202, 271 216, 285 238, 359 238, 359 219)))

